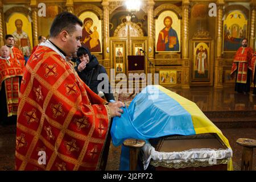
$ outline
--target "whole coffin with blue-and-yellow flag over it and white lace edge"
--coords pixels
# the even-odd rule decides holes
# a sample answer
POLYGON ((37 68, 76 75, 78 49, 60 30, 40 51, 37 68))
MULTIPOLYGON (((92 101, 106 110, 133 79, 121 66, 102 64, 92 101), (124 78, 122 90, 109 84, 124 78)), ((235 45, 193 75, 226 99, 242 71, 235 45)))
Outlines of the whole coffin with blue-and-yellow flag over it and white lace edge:
MULTIPOLYGON (((144 88, 121 117, 113 119, 111 134, 114 146, 131 138, 149 141, 141 148, 141 169, 233 169, 232 149, 221 130, 194 102, 160 85, 144 88)), ((137 163, 137 140, 124 143, 131 149, 122 147, 121 170, 136 169, 129 156, 137 163)))

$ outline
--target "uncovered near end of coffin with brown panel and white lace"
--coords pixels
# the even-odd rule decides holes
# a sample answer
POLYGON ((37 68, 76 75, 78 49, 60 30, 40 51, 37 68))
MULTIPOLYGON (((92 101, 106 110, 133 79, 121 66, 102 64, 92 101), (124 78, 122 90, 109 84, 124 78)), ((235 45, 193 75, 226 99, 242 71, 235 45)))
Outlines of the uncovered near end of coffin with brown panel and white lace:
POLYGON ((232 150, 214 133, 150 139, 142 151, 144 166, 150 163, 148 169, 156 171, 225 171, 232 158, 232 150))

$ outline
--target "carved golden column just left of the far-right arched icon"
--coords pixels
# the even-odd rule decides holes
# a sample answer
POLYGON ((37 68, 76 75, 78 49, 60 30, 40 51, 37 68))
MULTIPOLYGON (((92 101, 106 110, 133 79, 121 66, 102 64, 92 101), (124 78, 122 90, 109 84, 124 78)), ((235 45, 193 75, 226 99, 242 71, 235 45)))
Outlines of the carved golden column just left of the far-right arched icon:
POLYGON ((224 1, 217 1, 217 59, 214 64, 214 88, 223 88, 222 75, 223 75, 223 60, 222 60, 222 29, 223 29, 223 7, 224 1))

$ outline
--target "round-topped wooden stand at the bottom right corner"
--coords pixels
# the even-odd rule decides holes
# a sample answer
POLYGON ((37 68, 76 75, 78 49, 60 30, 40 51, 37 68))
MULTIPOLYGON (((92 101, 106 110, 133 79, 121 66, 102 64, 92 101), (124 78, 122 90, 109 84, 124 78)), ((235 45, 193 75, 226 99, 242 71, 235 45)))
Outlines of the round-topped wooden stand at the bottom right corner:
POLYGON ((237 143, 243 146, 241 171, 251 171, 253 168, 253 148, 256 147, 256 140, 239 138, 237 143))

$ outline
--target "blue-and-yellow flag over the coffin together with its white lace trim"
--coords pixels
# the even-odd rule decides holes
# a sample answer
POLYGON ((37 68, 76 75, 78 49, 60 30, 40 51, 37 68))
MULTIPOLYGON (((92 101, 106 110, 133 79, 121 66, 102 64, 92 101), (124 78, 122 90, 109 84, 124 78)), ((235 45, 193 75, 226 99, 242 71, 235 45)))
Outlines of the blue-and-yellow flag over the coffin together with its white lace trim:
MULTIPOLYGON (((179 162, 188 161, 189 158, 206 156, 216 158, 228 158, 228 169, 232 170, 232 149, 228 139, 197 107, 197 105, 179 96, 160 85, 149 85, 139 93, 131 102, 129 108, 124 108, 121 117, 113 119, 111 129, 114 146, 119 146, 125 139, 143 139, 147 144, 143 151, 147 156, 144 159, 144 169, 148 166, 150 159, 167 158, 179 162), (226 150, 211 150, 203 148, 200 150, 183 151, 180 154, 170 152, 162 155, 155 151, 148 139, 154 139, 170 135, 198 135, 212 133, 218 136, 225 144, 226 150), (150 152, 148 152, 150 151, 150 152), (155 155, 155 156, 154 156, 155 155)), ((166 152, 165 152, 166 153, 166 152)), ((129 148, 122 146, 121 170, 129 169, 129 148)))

